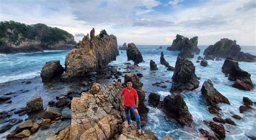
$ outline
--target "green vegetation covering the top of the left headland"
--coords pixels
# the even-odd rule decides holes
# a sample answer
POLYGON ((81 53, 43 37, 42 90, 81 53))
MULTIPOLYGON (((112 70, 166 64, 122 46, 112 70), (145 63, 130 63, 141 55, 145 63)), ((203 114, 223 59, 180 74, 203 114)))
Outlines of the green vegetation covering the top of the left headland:
MULTIPOLYGON (((25 39, 39 39, 44 44, 52 45, 58 43, 58 41, 65 40, 66 38, 73 38, 73 36, 62 29, 49 27, 45 24, 26 25, 9 21, 0 23, 0 39, 3 38, 8 39, 15 45, 19 45, 19 43, 25 39)), ((76 44, 76 42, 71 40, 68 44, 76 44)))

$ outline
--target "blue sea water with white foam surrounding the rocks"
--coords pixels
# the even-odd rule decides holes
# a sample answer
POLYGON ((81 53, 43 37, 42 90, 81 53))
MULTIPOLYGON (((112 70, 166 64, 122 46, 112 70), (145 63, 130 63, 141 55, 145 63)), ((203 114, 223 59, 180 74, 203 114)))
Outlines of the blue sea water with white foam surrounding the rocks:
MULTIPOLYGON (((169 62, 171 66, 175 66, 177 60, 178 51, 167 51, 167 46, 163 46, 163 49, 158 49, 158 45, 137 45, 140 52, 143 55, 144 62, 140 63, 139 66, 132 71, 134 74, 142 73, 144 76, 140 78, 143 82, 143 90, 146 93, 146 106, 149 108, 147 114, 147 124, 144 129, 151 129, 159 139, 169 134, 174 139, 198 139, 200 132, 199 128, 203 128, 207 131, 211 131, 204 123, 204 120, 212 121, 213 114, 208 113, 207 104, 205 103, 203 96, 201 95, 200 89, 203 82, 210 79, 214 87, 230 101, 231 105, 220 103, 218 106, 222 109, 220 111, 222 118, 231 118, 237 126, 230 124, 224 124, 226 130, 225 139, 248 139, 246 135, 256 136, 256 123, 255 123, 255 110, 250 110, 245 113, 239 113, 239 106, 242 105, 242 97, 247 96, 252 101, 256 101, 255 89, 251 91, 240 90, 233 88, 231 85, 233 81, 230 81, 225 77, 225 74, 221 72, 221 67, 225 59, 221 61, 208 60, 206 67, 200 66, 196 63, 197 57, 200 55, 203 57, 204 49, 207 46, 199 46, 201 49, 200 54, 195 55, 193 59, 189 59, 196 66, 196 74, 200 77, 199 88, 188 92, 182 93, 184 100, 188 106, 188 110, 193 116, 193 127, 182 127, 175 120, 169 119, 163 113, 162 110, 150 107, 147 100, 151 92, 158 93, 160 100, 163 101, 164 97, 170 95, 171 83, 165 82, 171 81, 173 71, 166 71, 166 67, 160 64, 160 54, 164 52, 165 60, 169 62), (157 71, 150 71, 150 60, 156 62, 157 71), (152 83, 164 81, 162 85, 166 85, 166 88, 154 87, 152 83), (237 114, 243 118, 243 120, 235 120, 231 116, 237 114)), ((241 46, 241 51, 249 52, 256 55, 255 46, 241 46)), ((12 97, 11 104, 1 104, 0 111, 10 110, 13 108, 13 104, 16 107, 24 107, 25 102, 28 101, 33 95, 41 95, 44 101, 44 107, 47 102, 54 99, 55 96, 60 94, 66 94, 69 90, 76 88, 77 85, 71 83, 56 83, 55 85, 42 83, 39 77, 43 65, 46 61, 60 60, 60 64, 64 66, 65 57, 68 51, 45 51, 36 53, 18 53, 18 54, 0 54, 0 95, 8 92, 16 92, 15 96, 12 97), (15 81, 13 81, 15 80, 15 81), (32 81, 31 84, 25 84, 26 81, 32 81), (29 90, 24 92, 24 90, 29 90)), ((130 71, 126 69, 127 61, 126 51, 119 51, 116 61, 110 62, 110 65, 120 68, 118 71, 130 71)), ((239 66, 248 73, 251 74, 252 82, 256 83, 256 62, 239 62, 239 66)), ((123 79, 122 79, 123 80, 123 79)), ((104 80, 103 80, 104 81, 104 80)), ((112 80, 103 82, 105 84, 112 83, 112 80), (108 82, 108 83, 107 83, 108 82)), ((14 116, 14 115, 13 115, 14 116)), ((16 116, 17 117, 17 116, 16 116)), ((21 118, 27 117, 22 116, 21 118)), ((68 123, 65 123, 68 125, 68 123)), ((64 126, 64 125, 63 125, 64 126)), ((12 127, 13 130, 15 127, 12 127)), ((6 131, 4 134, 0 134, 0 137, 6 136, 11 130, 6 131)), ((47 129, 45 130, 47 131, 47 129)), ((49 132, 44 132, 46 137, 49 132)))

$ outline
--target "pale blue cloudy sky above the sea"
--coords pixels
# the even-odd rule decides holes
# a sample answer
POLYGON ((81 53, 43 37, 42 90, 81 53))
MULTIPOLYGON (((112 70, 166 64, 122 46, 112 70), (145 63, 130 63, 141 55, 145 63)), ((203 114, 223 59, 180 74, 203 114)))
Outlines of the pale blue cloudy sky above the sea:
POLYGON ((119 45, 171 45, 176 34, 198 45, 221 38, 256 46, 256 0, 0 0, 0 20, 58 27, 82 40, 92 27, 119 45))

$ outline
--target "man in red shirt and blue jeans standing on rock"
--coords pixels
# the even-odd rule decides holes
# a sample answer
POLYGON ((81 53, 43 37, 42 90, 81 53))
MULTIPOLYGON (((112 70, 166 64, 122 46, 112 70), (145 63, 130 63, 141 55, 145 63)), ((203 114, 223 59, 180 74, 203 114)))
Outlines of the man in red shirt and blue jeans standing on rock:
POLYGON ((142 129, 140 128, 140 116, 138 113, 138 104, 139 104, 138 94, 136 89, 132 88, 131 79, 127 79, 126 86, 127 87, 124 88, 120 94, 121 104, 125 110, 125 114, 128 122, 128 125, 126 125, 125 128, 126 129, 129 128, 132 123, 131 116, 130 116, 130 110, 131 110, 134 114, 134 117, 136 118, 137 129, 140 135, 142 134, 142 129), (135 105, 134 99, 136 99, 136 105, 135 105))

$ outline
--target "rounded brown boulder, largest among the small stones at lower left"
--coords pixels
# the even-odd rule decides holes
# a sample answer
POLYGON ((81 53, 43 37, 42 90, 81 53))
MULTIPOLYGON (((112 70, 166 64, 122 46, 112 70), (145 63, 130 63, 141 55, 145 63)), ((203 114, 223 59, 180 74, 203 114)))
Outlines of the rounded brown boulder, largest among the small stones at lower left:
POLYGON ((26 103, 27 113, 36 113, 43 109, 43 100, 41 96, 34 96, 30 101, 26 103))

